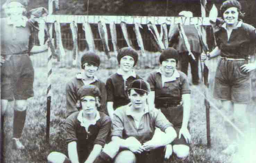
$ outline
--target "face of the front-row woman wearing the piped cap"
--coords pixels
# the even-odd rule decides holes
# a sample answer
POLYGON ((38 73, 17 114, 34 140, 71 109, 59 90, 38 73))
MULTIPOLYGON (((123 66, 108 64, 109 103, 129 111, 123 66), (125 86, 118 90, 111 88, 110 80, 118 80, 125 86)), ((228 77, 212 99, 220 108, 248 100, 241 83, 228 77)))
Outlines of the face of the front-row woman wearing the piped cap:
POLYGON ((139 94, 134 89, 131 89, 129 99, 134 109, 141 109, 146 105, 147 93, 139 94))

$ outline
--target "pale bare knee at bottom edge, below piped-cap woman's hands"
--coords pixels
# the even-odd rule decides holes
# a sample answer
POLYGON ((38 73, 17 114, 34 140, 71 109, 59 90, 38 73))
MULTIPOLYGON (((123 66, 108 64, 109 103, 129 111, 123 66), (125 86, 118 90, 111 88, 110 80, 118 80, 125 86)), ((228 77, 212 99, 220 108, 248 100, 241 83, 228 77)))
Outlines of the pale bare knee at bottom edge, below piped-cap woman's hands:
POLYGON ((129 150, 125 150, 120 152, 116 159, 114 160, 114 163, 135 163, 136 157, 135 154, 129 150))

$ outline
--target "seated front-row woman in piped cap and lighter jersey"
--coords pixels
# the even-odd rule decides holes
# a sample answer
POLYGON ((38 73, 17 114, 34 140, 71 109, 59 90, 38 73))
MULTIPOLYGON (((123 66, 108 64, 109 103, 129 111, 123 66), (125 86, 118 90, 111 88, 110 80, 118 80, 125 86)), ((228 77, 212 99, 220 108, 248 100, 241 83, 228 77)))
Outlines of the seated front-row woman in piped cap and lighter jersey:
POLYGON ((164 146, 176 137, 173 125, 161 110, 147 103, 149 85, 142 79, 134 80, 128 89, 130 103, 117 108, 113 114, 112 141, 106 144, 95 163, 162 163, 164 146), (152 139, 155 127, 167 134, 152 139))

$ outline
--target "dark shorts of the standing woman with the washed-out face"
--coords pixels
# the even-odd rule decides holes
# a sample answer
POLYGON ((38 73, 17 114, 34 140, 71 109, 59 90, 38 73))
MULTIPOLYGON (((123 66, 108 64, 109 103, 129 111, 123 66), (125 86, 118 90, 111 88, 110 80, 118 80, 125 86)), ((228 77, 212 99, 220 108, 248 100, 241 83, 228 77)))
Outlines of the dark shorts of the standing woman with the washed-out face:
POLYGON ((34 68, 28 55, 12 55, 1 66, 1 99, 26 100, 34 96, 34 68))

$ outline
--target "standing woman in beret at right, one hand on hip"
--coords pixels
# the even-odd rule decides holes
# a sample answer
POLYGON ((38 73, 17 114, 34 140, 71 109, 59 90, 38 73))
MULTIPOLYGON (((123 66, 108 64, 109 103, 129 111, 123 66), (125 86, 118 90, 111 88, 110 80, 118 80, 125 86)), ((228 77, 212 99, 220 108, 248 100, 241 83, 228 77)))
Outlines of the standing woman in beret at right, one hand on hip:
MULTIPOLYGON (((248 126, 246 107, 251 90, 249 72, 256 69, 256 62, 248 63, 249 55, 254 54, 255 28, 239 19, 243 14, 237 0, 223 2, 220 11, 224 24, 217 26, 214 32, 217 46, 209 56, 221 56, 215 74, 213 96, 221 100, 233 123, 242 130, 248 126)), ((206 58, 202 54, 202 60, 206 58)), ((225 122, 225 128, 231 144, 222 152, 230 154, 237 149, 238 137, 229 123, 225 122)))

